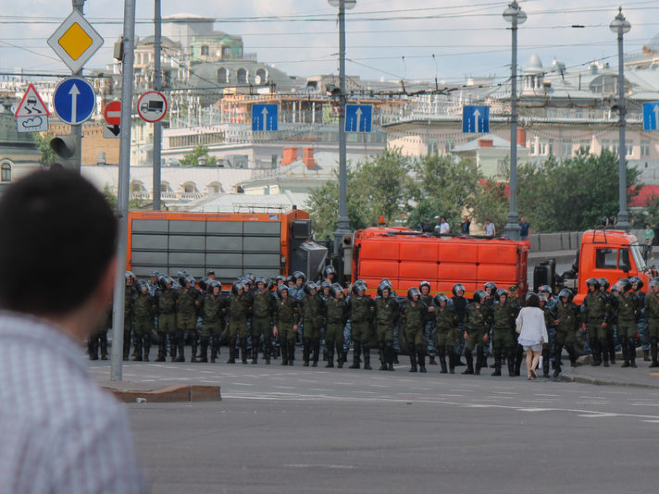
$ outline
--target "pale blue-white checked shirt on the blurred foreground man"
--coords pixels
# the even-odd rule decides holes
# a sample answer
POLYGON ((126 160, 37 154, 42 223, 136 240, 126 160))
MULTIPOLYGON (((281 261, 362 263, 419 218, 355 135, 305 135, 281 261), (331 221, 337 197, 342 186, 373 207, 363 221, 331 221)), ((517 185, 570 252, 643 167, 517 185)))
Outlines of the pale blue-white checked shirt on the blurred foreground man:
POLYGON ((143 493, 123 405, 59 327, 0 312, 0 492, 143 493))

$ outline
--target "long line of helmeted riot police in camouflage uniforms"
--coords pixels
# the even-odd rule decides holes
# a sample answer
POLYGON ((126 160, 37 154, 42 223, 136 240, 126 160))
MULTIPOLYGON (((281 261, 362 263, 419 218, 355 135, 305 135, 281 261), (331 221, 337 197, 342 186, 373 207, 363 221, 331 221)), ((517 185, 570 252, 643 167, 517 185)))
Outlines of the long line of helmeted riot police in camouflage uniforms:
MULTIPOLYGON (((292 366, 297 342, 302 343, 304 366, 318 366, 321 354, 326 367, 343 368, 350 343, 353 344, 351 369, 370 370, 370 347, 376 341, 380 370, 393 371, 399 343, 406 344, 410 371, 426 372, 439 358, 441 373, 455 373, 466 359, 463 374, 480 374, 488 367, 492 346, 494 372, 501 375, 507 364, 510 376, 519 376, 523 351, 517 344, 515 319, 522 302, 517 287, 508 290, 485 283, 473 298, 465 297, 465 287, 453 286, 451 298, 443 293, 432 296, 430 283, 411 287, 407 297, 393 292, 391 282, 383 279, 372 298, 364 281, 357 281, 345 296, 333 283, 335 271, 328 266, 321 283, 306 281, 304 273, 278 276, 275 281, 247 273, 223 294, 213 271, 195 280, 179 271, 178 283, 167 275, 152 272, 150 280, 137 281, 127 271, 123 358, 128 360, 130 344, 133 360, 149 361, 152 342, 158 343, 156 362, 164 362, 169 352, 173 362, 185 362, 184 344, 189 340, 192 362, 215 362, 220 345, 226 342, 227 363, 240 357, 243 364, 251 358, 258 363, 263 353, 266 364, 281 355, 281 364, 292 366), (399 339, 401 341, 399 341, 399 339), (321 352, 321 346, 324 352, 321 352), (198 350, 200 350, 198 352, 198 350), (475 351, 475 361, 474 361, 475 351)), ((652 352, 652 367, 657 367, 659 333, 659 278, 652 279, 652 294, 645 297, 643 281, 621 279, 608 291, 606 279, 588 279, 589 294, 581 308, 572 302, 565 288, 558 298, 551 289, 540 289, 540 307, 550 335, 543 348, 543 376, 549 377, 550 362, 554 377, 561 372, 561 352, 567 350, 571 365, 576 365, 577 346, 588 336, 592 365, 615 363, 616 343, 622 348, 623 367, 635 367, 637 333, 647 335, 652 352)), ((107 358, 106 321, 90 338, 91 359, 107 358)), ((648 352, 649 353, 649 352, 648 352)), ((646 356, 646 360, 650 360, 646 356)))

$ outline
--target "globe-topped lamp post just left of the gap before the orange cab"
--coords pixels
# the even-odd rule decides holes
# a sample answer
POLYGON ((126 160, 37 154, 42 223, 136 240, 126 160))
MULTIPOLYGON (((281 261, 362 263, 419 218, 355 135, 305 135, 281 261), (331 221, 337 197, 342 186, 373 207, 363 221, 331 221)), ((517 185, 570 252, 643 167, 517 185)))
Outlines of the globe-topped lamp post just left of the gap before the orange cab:
POLYGON ((503 18, 511 22, 513 32, 513 59, 510 66, 511 90, 510 90, 510 209, 508 211, 508 222, 503 228, 503 234, 508 238, 519 240, 519 214, 517 214, 517 26, 524 24, 527 14, 519 7, 517 0, 509 3, 503 11, 503 18))

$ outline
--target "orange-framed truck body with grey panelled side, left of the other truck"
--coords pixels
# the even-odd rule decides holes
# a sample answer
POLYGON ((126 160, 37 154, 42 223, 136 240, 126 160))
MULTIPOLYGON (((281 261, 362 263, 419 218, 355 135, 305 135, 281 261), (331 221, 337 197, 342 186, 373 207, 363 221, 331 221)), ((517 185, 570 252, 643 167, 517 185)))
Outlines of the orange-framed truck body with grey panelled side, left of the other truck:
POLYGON ((287 213, 131 211, 127 269, 200 277, 215 271, 229 286, 252 272, 274 278, 295 270, 320 273, 327 249, 310 241, 311 221, 301 209, 287 213))

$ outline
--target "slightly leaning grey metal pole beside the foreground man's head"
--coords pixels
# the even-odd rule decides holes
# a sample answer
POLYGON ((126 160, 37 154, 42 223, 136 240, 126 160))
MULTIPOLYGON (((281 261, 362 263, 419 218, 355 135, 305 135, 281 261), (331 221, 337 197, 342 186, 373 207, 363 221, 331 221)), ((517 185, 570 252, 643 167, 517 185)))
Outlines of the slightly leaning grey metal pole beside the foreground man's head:
POLYGON ((119 152, 119 241, 117 243, 117 275, 115 276, 114 314, 112 317, 111 375, 121 381, 123 358, 124 297, 126 290, 125 265, 128 243, 128 200, 130 186, 130 127, 135 61, 135 0, 124 3, 124 57, 121 78, 121 149, 119 152))

